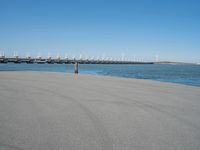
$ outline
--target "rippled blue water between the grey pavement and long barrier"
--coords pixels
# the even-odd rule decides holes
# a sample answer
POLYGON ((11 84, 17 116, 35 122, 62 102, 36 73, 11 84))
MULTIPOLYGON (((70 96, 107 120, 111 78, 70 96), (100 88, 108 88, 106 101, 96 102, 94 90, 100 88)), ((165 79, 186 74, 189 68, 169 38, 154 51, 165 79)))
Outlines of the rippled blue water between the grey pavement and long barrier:
MULTIPOLYGON (((0 71, 73 72, 69 64, 0 64, 0 71)), ((151 79, 200 86, 200 65, 79 65, 79 73, 151 79)))

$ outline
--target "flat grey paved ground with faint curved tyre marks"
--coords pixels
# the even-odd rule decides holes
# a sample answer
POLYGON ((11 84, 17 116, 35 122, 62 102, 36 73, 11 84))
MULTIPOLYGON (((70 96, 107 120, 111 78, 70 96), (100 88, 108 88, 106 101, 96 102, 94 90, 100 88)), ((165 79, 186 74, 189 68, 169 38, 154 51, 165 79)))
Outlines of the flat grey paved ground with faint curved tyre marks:
POLYGON ((0 72, 0 150, 199 150, 200 88, 0 72))

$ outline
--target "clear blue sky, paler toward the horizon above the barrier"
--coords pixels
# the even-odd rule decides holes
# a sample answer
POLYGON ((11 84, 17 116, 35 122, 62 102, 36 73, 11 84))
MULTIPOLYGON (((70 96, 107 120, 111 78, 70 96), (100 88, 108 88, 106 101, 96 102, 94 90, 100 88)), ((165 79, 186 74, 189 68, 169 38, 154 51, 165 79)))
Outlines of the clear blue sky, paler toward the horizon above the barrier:
POLYGON ((200 1, 0 0, 0 51, 200 62, 200 1))

